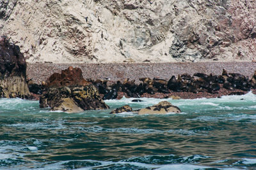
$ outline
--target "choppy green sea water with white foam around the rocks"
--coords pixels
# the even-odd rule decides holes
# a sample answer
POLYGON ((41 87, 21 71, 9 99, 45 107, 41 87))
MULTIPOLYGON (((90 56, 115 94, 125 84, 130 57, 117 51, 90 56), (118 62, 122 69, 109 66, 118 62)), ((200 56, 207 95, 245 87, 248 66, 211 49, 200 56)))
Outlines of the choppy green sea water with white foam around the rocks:
POLYGON ((167 99, 181 114, 109 115, 40 109, 0 99, 0 169, 256 169, 256 96, 167 99))

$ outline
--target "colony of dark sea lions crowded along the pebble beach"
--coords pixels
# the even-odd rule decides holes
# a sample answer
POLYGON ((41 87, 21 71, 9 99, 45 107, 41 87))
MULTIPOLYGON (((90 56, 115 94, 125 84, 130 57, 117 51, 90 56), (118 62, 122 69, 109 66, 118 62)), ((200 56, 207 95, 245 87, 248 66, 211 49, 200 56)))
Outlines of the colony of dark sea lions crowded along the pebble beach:
MULTIPOLYGON (((140 78, 142 81, 139 85, 135 83, 135 80, 129 81, 127 78, 123 83, 116 81, 110 83, 108 80, 87 80, 91 82, 99 90, 99 94, 102 99, 116 99, 118 92, 124 92, 128 97, 141 97, 143 94, 155 94, 160 92, 163 94, 169 94, 171 92, 208 92, 210 94, 218 94, 218 90, 221 88, 227 90, 240 89, 243 91, 250 91, 256 89, 256 71, 252 78, 238 74, 227 73, 225 69, 221 75, 195 73, 193 76, 189 74, 181 74, 172 76, 170 80, 163 80, 159 78, 140 78)), ((42 93, 44 89, 43 85, 35 85, 29 83, 29 90, 34 94, 42 93)))

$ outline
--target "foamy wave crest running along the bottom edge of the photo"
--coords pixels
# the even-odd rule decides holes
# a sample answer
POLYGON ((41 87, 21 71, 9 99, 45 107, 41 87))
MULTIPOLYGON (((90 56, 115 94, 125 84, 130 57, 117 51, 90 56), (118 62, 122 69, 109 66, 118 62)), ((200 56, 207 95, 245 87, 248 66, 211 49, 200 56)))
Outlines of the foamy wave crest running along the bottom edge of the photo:
MULTIPOLYGON (((31 163, 33 169, 79 169, 79 170, 90 170, 90 169, 154 169, 154 170, 169 170, 169 169, 225 169, 235 170, 232 167, 214 167, 214 166, 200 166, 188 163, 188 164, 152 164, 143 162, 127 162, 125 160, 114 161, 99 161, 99 160, 67 160, 60 162, 52 162, 50 164, 41 164, 40 166, 35 162, 31 163), (34 164, 33 164, 34 163, 34 164), (37 166, 37 167, 36 167, 37 166), (39 167, 38 167, 39 166, 39 167)), ((22 167, 22 166, 19 166, 22 167)), ((6 168, 8 169, 8 168, 6 168)), ((12 168, 10 168, 12 169, 12 168)), ((237 168, 238 169, 238 168, 237 168)), ((240 168, 239 168, 240 169, 240 168)))

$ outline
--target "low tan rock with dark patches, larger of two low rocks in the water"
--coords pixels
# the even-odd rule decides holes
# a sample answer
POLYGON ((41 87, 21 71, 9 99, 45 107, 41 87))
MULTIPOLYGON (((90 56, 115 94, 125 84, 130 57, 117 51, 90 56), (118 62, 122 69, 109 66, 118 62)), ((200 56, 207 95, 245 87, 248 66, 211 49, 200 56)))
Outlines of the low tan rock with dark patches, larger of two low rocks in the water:
POLYGON ((141 109, 138 112, 138 115, 145 115, 145 114, 166 114, 166 113, 180 113, 180 109, 177 106, 173 106, 172 103, 169 103, 168 101, 161 101, 160 103, 150 106, 144 109, 141 109))

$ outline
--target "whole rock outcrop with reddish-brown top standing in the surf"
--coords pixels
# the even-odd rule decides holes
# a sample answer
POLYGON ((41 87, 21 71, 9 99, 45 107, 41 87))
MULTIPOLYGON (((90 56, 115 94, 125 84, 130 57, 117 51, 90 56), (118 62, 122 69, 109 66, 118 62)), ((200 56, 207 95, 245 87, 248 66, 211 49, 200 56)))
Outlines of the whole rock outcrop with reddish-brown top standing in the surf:
POLYGON ((48 78, 40 97, 40 108, 47 107, 68 113, 109 108, 100 98, 97 88, 84 80, 81 69, 73 67, 48 78))

